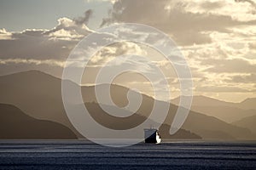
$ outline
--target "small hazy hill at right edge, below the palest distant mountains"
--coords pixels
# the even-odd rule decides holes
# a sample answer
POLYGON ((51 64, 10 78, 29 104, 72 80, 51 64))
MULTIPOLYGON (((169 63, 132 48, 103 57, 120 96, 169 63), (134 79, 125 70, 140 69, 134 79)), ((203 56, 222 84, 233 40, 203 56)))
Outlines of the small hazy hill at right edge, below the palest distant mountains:
POLYGON ((256 133, 256 115, 254 116, 247 116, 245 118, 242 118, 239 121, 232 122, 233 125, 236 125, 238 127, 245 127, 247 129, 250 129, 253 133, 256 133))

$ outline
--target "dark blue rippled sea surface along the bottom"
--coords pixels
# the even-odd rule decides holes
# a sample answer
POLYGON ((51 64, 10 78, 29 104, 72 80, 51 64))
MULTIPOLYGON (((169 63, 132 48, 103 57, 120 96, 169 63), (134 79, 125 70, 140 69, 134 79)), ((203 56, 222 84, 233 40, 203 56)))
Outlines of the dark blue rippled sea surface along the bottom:
POLYGON ((256 169, 256 142, 111 148, 84 140, 0 140, 0 169, 256 169))

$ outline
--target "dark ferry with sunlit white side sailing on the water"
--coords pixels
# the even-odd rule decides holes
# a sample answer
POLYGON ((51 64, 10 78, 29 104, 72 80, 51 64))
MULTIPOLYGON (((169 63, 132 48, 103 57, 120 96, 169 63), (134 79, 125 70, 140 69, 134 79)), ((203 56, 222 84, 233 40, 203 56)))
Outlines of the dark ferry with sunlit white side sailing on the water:
POLYGON ((145 128, 144 139, 146 144, 160 144, 161 142, 160 133, 155 128, 145 128))

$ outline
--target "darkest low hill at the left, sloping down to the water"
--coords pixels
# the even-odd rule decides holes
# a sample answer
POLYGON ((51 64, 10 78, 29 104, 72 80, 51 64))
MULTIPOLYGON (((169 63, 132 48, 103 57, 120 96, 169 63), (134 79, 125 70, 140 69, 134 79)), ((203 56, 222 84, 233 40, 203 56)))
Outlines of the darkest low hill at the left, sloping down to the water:
POLYGON ((14 105, 0 104, 0 139, 76 139, 60 123, 27 116, 14 105))

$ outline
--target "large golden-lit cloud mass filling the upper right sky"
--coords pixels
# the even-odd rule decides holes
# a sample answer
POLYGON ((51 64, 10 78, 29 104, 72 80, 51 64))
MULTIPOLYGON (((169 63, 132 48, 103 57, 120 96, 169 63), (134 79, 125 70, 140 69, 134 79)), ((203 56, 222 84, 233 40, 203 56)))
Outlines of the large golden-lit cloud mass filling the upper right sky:
POLYGON ((252 3, 224 0, 119 0, 102 25, 136 22, 154 26, 182 48, 200 93, 249 93, 253 88, 247 82, 228 79, 233 74, 244 77, 256 72, 252 9, 252 3))

